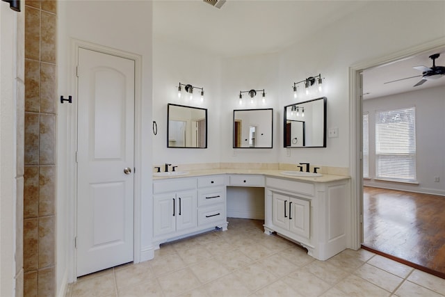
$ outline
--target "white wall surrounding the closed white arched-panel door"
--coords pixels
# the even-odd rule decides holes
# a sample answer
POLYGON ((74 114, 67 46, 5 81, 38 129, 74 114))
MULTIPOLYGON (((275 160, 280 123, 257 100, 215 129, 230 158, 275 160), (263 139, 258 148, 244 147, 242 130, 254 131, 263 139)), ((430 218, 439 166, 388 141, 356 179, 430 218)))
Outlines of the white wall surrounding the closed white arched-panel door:
MULTIPOLYGON (((140 248, 149 254, 152 250, 152 2, 151 1, 58 1, 58 95, 74 95, 74 48, 72 38, 92 42, 111 49, 141 56, 142 86, 136 90, 142 102, 140 122, 140 189, 142 214, 140 248)), ((74 238, 74 147, 72 135, 75 124, 74 104, 58 105, 58 190, 57 190, 57 289, 63 294, 63 282, 72 282, 70 271, 74 266, 72 254, 74 238), (71 166, 71 167, 70 167, 71 166), (68 275, 67 275, 68 274, 68 275)), ((137 113, 138 111, 136 111, 137 113)), ((136 128, 138 129, 138 128, 136 128)), ((137 148, 136 148, 137 150, 137 148)), ((136 197, 138 197, 136 193, 136 197)), ((149 256, 149 255, 146 256, 149 256)), ((135 255, 138 257, 140 255, 135 255)))

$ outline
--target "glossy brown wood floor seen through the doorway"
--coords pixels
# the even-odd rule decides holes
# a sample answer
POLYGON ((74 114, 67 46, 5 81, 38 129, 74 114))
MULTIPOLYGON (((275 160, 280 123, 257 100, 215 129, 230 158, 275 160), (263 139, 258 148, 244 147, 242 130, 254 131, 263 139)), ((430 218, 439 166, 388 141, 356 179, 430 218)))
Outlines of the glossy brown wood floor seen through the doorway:
POLYGON ((364 248, 445 278, 445 197, 367 186, 363 196, 364 248))

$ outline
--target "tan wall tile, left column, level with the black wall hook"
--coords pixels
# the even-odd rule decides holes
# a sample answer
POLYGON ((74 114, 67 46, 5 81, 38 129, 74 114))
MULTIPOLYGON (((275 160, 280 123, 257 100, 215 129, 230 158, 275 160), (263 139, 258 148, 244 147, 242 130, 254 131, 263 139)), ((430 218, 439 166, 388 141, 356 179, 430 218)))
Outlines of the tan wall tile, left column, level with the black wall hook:
POLYGON ((39 112, 40 109, 40 63, 25 61, 25 111, 39 112))

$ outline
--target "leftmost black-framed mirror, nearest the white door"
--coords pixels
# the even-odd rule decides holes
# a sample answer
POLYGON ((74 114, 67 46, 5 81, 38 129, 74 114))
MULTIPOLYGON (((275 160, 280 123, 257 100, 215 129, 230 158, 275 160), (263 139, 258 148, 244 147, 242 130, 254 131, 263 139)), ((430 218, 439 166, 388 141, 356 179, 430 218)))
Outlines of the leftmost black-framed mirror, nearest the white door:
POLYGON ((207 148, 207 109, 169 103, 167 147, 207 148))

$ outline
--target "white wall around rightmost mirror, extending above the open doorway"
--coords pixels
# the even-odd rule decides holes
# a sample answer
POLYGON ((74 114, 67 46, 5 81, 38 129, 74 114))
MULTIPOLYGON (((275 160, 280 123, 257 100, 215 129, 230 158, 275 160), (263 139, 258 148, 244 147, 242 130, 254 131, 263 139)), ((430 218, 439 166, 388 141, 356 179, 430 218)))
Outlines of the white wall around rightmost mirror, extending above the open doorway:
POLYGON ((350 167, 348 67, 443 38, 444 14, 444 1, 371 1, 283 51, 280 104, 293 102, 289 88, 293 81, 321 73, 327 85, 323 92, 327 97, 327 128, 338 127, 339 137, 327 138, 326 148, 292 149, 291 156, 280 150, 280 162, 350 167))

